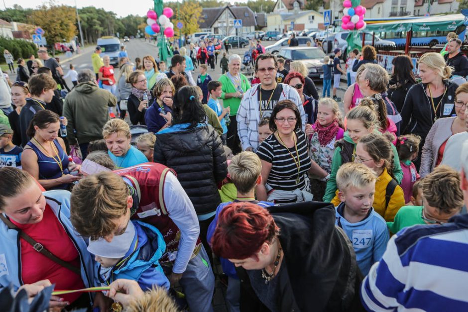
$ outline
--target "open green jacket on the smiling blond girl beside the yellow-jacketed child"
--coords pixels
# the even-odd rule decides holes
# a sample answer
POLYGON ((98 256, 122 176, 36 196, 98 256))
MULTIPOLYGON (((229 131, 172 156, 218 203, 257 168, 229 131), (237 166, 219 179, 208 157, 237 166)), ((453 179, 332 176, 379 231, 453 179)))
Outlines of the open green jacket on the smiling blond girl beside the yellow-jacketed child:
MULTIPOLYGON (((382 134, 378 130, 374 130, 374 133, 382 134)), ((351 143, 354 146, 353 149, 355 150, 356 144, 351 140, 348 131, 345 132, 345 137, 343 139, 351 143)), ((396 151, 396 147, 393 144, 391 144, 391 146, 393 150, 393 175, 395 176, 396 182, 400 184, 401 180, 403 180, 403 170, 401 170, 400 159, 398 158, 398 152, 396 151)), ((332 159, 332 172, 330 173, 330 180, 328 180, 327 182, 327 189, 325 190, 325 195, 323 197, 323 201, 325 203, 330 203, 335 197, 335 193, 337 191, 337 172, 343 164, 343 159, 340 153, 341 147, 335 148, 335 153, 333 154, 332 159)))

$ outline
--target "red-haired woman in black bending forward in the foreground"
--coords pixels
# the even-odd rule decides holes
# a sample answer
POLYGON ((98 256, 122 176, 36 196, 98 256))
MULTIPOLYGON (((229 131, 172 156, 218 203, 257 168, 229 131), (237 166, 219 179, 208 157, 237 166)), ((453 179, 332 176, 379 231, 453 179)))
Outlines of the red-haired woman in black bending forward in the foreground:
POLYGON ((215 254, 234 263, 241 311, 363 311, 359 273, 331 204, 233 203, 220 213, 215 254))

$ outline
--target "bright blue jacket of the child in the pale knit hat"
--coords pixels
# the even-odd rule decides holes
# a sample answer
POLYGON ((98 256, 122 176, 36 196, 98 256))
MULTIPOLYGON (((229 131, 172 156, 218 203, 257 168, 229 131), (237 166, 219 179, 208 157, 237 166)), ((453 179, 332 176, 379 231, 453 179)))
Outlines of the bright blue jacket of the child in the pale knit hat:
MULTIPOLYGON (((131 246, 138 242, 136 249, 130 248, 123 256, 123 263, 117 264, 107 281, 99 276, 101 284, 108 285, 117 279, 128 279, 138 282, 143 291, 151 290, 153 285, 169 289, 169 280, 159 264, 159 259, 166 250, 166 243, 159 230, 148 224, 137 220, 131 220, 135 225, 136 234, 131 246)), ((98 272, 101 269, 97 264, 98 272)))

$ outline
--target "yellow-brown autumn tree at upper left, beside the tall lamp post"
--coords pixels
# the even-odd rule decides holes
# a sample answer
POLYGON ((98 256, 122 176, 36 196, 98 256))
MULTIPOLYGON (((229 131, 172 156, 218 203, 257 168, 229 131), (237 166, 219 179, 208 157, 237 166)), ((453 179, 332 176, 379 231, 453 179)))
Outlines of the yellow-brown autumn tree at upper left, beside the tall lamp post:
POLYGON ((32 12, 31 22, 44 29, 44 36, 52 46, 53 55, 55 55, 54 43, 70 41, 75 36, 75 14, 73 7, 55 5, 52 1, 49 2, 49 6, 42 4, 32 12))

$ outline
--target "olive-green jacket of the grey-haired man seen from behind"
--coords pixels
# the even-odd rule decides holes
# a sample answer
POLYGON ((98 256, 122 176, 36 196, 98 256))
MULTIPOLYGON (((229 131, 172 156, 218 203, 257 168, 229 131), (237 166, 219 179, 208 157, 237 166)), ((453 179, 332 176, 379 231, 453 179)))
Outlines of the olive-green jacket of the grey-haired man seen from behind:
POLYGON ((76 138, 80 144, 102 139, 103 127, 109 120, 108 107, 116 104, 117 98, 95 83, 79 83, 63 104, 63 115, 68 119, 68 143, 76 144, 76 138))

